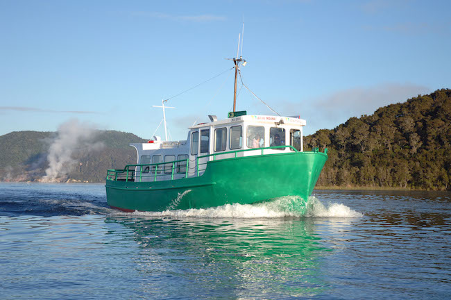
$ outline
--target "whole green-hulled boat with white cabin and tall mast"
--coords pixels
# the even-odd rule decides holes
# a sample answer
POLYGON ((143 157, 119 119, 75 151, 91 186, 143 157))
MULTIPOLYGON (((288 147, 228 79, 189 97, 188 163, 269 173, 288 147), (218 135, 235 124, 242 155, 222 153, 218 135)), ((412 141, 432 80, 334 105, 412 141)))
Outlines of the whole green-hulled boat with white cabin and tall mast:
MULTIPOLYGON (((187 210, 226 204, 253 204, 296 196, 307 202, 327 160, 327 149, 303 149, 305 119, 300 116, 248 115, 236 110, 226 119, 189 127, 187 140, 154 136, 133 143, 137 163, 109 169, 108 205, 125 212, 187 210)), ((163 101, 163 113, 164 113, 163 101)), ((164 120, 166 123, 166 121, 164 120)))

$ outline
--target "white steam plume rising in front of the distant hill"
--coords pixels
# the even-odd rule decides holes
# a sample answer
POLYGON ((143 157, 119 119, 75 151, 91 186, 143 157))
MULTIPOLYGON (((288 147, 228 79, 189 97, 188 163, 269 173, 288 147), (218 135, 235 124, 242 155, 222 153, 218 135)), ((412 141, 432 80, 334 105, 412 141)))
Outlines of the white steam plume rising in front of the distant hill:
POLYGON ((49 147, 49 167, 45 170, 46 175, 42 181, 55 182, 64 179, 78 164, 73 158, 74 153, 100 150, 103 143, 94 141, 97 132, 94 125, 80 123, 78 119, 61 124, 49 147))

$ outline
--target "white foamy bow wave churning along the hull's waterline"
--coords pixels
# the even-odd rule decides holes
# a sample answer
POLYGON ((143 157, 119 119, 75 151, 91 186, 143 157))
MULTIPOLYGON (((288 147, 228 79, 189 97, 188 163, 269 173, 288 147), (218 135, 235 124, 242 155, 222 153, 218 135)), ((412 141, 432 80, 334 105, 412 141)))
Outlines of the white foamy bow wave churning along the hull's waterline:
MULTIPOLYGON (((180 195, 182 197, 182 195, 180 195)), ((138 212, 127 215, 175 218, 283 218, 283 217, 362 217, 348 206, 332 203, 327 207, 316 197, 307 202, 300 197, 280 197, 271 202, 250 204, 226 204, 215 208, 188 210, 164 210, 163 212, 138 212)))

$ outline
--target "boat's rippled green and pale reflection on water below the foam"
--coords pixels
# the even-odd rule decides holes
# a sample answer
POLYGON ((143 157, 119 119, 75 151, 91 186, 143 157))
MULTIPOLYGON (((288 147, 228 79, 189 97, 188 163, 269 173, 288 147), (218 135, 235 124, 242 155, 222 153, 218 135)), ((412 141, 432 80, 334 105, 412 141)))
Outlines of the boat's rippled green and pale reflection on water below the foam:
MULTIPOLYGON (((108 217, 133 231, 137 270, 156 298, 172 293, 224 299, 321 294, 318 244, 308 219, 130 219, 108 217), (162 293, 162 294, 161 294, 162 293)), ((127 235, 130 238, 130 235, 127 235)))

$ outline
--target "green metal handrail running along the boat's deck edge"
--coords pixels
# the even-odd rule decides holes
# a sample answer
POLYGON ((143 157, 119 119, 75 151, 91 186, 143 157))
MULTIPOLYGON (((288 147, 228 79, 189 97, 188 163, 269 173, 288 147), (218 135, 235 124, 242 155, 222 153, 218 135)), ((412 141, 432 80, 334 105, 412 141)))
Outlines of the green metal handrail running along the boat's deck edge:
MULTIPOLYGON (((200 158, 207 158, 207 157, 213 156, 213 160, 216 160, 216 156, 223 156, 223 155, 227 155, 227 154, 231 154, 231 153, 235 153, 235 158, 237 158, 237 153, 246 152, 246 151, 262 151, 261 155, 264 155, 264 151, 265 150, 269 150, 269 149, 286 149, 286 148, 289 148, 292 151, 294 151, 296 153, 299 153, 298 149, 294 148, 291 145, 281 145, 281 146, 273 146, 273 147, 260 147, 260 148, 252 148, 252 149, 239 149, 239 150, 235 150, 235 151, 219 152, 219 153, 207 154, 205 156, 198 156, 196 158, 196 167, 194 167, 194 168, 196 168, 197 176, 200 176, 200 171, 201 170, 199 169, 199 166, 200 165, 206 165, 208 163, 208 161, 210 161, 210 160, 208 160, 207 163, 199 163, 199 159, 200 158)), ((314 149, 314 152, 317 152, 317 151, 318 151, 318 149, 314 149)), ((327 149, 325 149, 325 153, 327 155, 327 149)), ((164 162, 164 163, 151 163, 151 164, 141 164, 141 165, 126 165, 124 167, 124 169, 108 169, 106 179, 112 180, 111 176, 114 176, 114 181, 117 181, 119 174, 124 176, 124 173, 126 173, 125 174, 125 181, 135 181, 135 173, 138 172, 135 169, 137 167, 139 167, 139 182, 142 182, 143 169, 144 169, 144 167, 149 167, 147 172, 144 171, 144 174, 152 173, 153 181, 157 181, 157 177, 158 176, 169 176, 169 173, 165 173, 164 171, 166 169, 166 165, 171 164, 172 166, 171 166, 171 173, 170 174, 171 174, 171 180, 173 180, 174 172, 176 170, 176 163, 181 163, 181 162, 186 162, 186 165, 179 166, 179 167, 185 167, 185 178, 188 178, 188 170, 189 170, 189 168, 193 169, 193 167, 189 166, 189 162, 190 162, 189 158, 184 159, 184 160, 173 160, 171 162, 164 162), (159 170, 158 166, 160 166, 160 165, 165 165, 165 166, 162 167, 162 169, 159 170), (151 167, 155 167, 155 169, 152 169, 151 167), (131 169, 131 168, 135 168, 135 169, 131 169)), ((182 174, 182 173, 179 173, 179 174, 182 174)), ((150 175, 150 176, 152 176, 152 175, 150 175)), ((144 176, 146 176, 146 175, 144 175, 144 176)), ((150 177, 150 176, 147 176, 147 177, 150 177)), ((121 180, 124 181, 124 178, 121 178, 121 180)))

